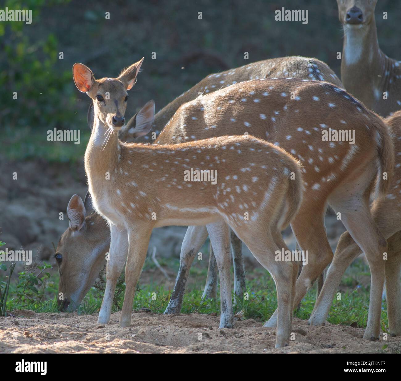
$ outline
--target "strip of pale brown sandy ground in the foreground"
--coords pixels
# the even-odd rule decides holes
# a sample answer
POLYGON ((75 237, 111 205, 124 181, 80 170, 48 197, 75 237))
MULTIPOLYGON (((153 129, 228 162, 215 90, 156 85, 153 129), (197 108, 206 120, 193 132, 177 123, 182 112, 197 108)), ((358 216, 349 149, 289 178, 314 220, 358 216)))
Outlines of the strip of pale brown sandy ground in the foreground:
POLYGON ((275 329, 253 319, 220 329, 219 316, 159 315, 134 312, 131 326, 118 326, 119 313, 107 325, 97 315, 14 312, 0 318, 0 353, 399 353, 401 337, 372 342, 363 329, 309 326, 294 318, 295 339, 275 349, 275 329), (383 349, 383 345, 388 347, 383 349))

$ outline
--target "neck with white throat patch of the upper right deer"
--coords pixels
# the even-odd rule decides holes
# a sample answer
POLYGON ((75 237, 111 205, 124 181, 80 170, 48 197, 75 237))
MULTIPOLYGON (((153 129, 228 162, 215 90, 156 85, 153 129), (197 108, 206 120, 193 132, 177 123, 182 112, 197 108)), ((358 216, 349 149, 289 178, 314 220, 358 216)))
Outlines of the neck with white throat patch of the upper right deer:
POLYGON ((341 81, 344 87, 368 107, 381 93, 385 55, 377 41, 376 22, 360 28, 344 26, 341 81))

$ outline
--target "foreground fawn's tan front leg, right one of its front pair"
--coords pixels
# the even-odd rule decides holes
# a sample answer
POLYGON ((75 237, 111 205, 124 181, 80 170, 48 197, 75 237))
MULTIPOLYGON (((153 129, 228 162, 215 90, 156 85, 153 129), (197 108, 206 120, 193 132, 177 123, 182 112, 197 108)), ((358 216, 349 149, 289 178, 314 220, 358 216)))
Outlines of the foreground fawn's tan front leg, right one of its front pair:
POLYGON ((126 264, 126 293, 124 296, 123 308, 121 310, 120 327, 128 327, 131 324, 132 304, 136 284, 144 266, 146 252, 148 250, 152 226, 148 224, 135 225, 128 232, 129 249, 126 264))

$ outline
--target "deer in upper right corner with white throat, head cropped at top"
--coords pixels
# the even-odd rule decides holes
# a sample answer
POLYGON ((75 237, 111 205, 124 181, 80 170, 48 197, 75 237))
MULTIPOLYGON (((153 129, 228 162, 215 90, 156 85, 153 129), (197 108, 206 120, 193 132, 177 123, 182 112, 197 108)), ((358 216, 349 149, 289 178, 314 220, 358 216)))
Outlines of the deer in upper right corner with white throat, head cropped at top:
POLYGON ((401 108, 401 62, 385 55, 377 41, 377 0, 337 0, 344 29, 341 80, 367 107, 388 116, 401 108))

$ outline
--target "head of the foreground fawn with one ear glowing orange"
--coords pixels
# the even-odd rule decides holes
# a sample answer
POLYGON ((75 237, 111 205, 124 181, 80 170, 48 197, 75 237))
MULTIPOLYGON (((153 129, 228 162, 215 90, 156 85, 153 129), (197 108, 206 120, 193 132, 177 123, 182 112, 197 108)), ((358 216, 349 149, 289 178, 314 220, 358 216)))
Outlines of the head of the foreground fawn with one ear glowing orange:
POLYGON ((112 130, 120 130, 124 124, 128 93, 136 82, 143 58, 123 70, 117 78, 95 79, 89 67, 81 63, 73 66, 73 77, 78 90, 93 101, 95 118, 112 130))

